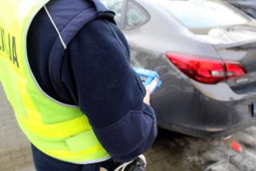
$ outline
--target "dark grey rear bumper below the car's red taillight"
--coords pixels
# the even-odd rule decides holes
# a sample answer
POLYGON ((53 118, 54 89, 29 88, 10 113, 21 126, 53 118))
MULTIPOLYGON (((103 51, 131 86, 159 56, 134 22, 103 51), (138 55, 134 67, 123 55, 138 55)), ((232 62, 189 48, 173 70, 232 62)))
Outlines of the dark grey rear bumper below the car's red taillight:
POLYGON ((236 94, 226 83, 208 86, 188 80, 180 86, 164 86, 152 97, 161 128, 194 137, 219 137, 256 125, 249 110, 256 93, 236 94))

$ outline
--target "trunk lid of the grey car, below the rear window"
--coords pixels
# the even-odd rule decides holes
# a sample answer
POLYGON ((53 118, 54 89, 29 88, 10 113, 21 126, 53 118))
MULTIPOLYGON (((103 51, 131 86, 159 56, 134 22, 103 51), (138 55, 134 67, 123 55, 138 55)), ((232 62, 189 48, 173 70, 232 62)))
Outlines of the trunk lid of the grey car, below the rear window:
POLYGON ((246 76, 226 82, 237 93, 256 90, 256 29, 250 25, 191 30, 200 41, 210 43, 222 60, 239 62, 246 76))

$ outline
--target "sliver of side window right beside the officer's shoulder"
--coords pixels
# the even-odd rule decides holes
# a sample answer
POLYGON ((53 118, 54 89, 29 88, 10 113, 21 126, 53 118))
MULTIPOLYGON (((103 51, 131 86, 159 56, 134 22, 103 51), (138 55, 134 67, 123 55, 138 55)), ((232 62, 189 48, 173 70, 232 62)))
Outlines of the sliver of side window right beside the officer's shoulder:
POLYGON ((120 24, 122 14, 122 2, 123 0, 100 0, 107 8, 113 10, 115 13, 114 20, 117 24, 120 24))

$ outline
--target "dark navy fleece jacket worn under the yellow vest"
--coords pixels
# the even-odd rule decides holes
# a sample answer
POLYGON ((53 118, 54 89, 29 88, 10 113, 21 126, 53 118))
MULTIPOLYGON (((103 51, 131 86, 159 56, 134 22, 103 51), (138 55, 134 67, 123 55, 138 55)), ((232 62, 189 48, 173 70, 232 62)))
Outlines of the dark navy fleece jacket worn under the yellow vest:
POLYGON ((66 50, 46 11, 40 10, 28 34, 30 67, 46 93, 80 107, 114 160, 130 161, 152 145, 156 119, 142 102, 146 92, 130 67, 129 46, 114 14, 94 2, 98 11, 86 0, 47 4, 66 50))

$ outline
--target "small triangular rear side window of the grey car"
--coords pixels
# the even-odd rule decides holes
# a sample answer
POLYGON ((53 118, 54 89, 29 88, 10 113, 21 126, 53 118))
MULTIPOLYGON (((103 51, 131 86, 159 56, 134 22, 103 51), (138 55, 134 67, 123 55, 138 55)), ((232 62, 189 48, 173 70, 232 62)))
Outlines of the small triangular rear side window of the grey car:
POLYGON ((149 20, 150 16, 137 2, 129 1, 126 11, 126 29, 142 26, 149 20))

